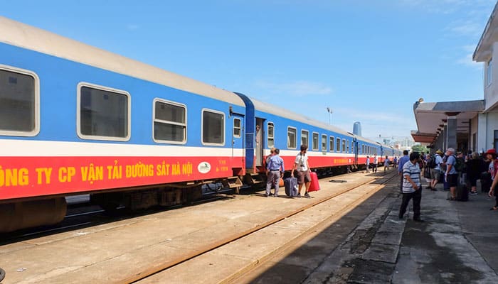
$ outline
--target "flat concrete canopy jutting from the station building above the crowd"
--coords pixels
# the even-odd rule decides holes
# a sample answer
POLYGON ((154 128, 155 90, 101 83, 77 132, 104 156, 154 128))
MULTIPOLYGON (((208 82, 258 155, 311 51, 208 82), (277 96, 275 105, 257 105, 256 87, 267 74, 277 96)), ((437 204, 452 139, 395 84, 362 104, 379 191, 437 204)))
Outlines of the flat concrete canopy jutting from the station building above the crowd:
POLYGON ((417 122, 417 131, 411 136, 415 142, 430 144, 443 126, 448 116, 457 119, 457 133, 468 133, 470 119, 484 110, 484 100, 460 102, 415 102, 413 112, 417 122))

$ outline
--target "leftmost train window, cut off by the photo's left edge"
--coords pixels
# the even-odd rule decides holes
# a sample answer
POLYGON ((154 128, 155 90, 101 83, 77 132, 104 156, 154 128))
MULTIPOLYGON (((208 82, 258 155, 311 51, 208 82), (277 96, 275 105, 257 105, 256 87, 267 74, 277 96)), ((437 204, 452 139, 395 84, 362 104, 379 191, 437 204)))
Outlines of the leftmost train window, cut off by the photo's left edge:
POLYGON ((36 136, 40 129, 38 76, 0 65, 0 133, 36 136))

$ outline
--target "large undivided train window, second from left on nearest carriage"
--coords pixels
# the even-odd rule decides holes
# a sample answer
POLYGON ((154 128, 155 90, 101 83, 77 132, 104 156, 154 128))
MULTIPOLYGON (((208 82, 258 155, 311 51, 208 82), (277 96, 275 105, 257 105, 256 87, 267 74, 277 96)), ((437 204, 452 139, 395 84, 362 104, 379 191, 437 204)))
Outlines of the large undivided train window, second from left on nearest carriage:
POLYGON ((130 136, 129 94, 88 83, 78 84, 78 136, 127 141, 130 136))

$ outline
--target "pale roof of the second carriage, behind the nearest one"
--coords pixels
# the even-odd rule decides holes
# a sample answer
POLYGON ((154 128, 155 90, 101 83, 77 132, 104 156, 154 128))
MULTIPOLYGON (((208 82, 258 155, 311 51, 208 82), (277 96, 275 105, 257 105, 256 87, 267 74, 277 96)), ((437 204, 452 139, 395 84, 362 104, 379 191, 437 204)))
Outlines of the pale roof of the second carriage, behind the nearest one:
POLYGON ((342 134, 345 136, 350 136, 350 137, 355 136, 354 134, 349 133, 347 131, 344 131, 342 129, 339 129, 335 126, 332 126, 329 124, 324 124, 321 121, 310 119, 309 117, 303 116, 301 114, 296 114, 295 112, 289 111, 287 109, 282 109, 282 107, 277 107, 274 104, 260 102, 260 101, 258 101, 258 99, 254 99, 253 97, 250 97, 250 100, 253 102, 255 109, 258 111, 264 111, 264 112, 267 112, 269 114, 275 114, 277 116, 285 117, 286 119, 292 119, 295 121, 300 121, 304 124, 317 126, 317 127, 322 128, 322 129, 328 129, 330 131, 334 131, 336 133, 339 133, 339 134, 342 134))

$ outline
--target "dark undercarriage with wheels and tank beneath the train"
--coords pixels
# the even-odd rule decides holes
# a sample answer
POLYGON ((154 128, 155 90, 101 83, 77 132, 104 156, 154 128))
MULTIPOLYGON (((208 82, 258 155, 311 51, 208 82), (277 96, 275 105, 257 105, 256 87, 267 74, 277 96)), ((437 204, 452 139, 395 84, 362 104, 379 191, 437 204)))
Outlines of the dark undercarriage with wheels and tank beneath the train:
MULTIPOLYGON (((345 165, 341 167, 314 169, 319 176, 338 175, 357 170, 357 167, 345 165)), ((285 173, 285 178, 290 171, 285 173)), ((220 180, 184 182, 154 187, 127 188, 106 192, 90 193, 90 202, 99 205, 107 212, 115 212, 125 208, 135 212, 151 207, 172 207, 189 204, 201 200, 205 195, 232 191, 238 194, 240 189, 263 187, 266 176, 260 173, 234 176, 220 180)), ((63 221, 67 212, 65 197, 27 200, 0 204, 0 233, 8 233, 36 226, 58 224, 63 221)))

